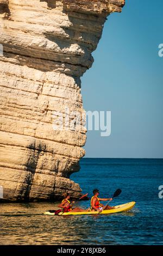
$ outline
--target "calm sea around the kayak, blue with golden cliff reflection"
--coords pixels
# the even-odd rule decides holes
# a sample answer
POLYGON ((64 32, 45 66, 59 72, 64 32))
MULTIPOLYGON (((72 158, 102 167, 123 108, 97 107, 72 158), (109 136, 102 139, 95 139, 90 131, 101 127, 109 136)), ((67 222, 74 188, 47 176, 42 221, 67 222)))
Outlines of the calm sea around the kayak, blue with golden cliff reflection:
MULTIPOLYGON (((129 212, 111 215, 48 216, 58 202, 1 203, 0 245, 163 245, 163 159, 89 159, 71 179, 83 194, 108 198, 111 206, 135 201, 129 212)), ((105 204, 105 202, 104 202, 105 204)), ((90 201, 78 207, 87 209, 90 201)))

